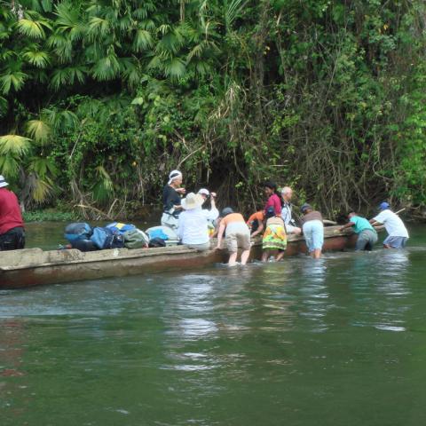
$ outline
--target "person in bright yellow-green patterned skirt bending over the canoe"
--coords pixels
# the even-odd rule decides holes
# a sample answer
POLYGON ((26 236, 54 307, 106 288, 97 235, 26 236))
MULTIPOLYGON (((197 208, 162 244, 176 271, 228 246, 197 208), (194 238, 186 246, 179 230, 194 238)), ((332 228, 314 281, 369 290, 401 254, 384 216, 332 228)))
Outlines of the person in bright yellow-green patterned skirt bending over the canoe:
POLYGON ((275 215, 273 207, 266 210, 266 229, 262 240, 262 262, 266 262, 270 256, 275 256, 277 262, 284 257, 287 248, 286 226, 282 217, 275 215))

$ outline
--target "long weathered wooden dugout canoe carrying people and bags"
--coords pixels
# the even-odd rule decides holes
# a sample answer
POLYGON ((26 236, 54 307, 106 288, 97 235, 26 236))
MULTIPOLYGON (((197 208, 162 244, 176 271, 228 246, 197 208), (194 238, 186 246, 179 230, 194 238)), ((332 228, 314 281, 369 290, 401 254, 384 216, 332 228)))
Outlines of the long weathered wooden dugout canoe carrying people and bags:
MULTIPOLYGON (((356 237, 339 226, 325 229, 324 251, 354 247, 356 237)), ((254 241, 252 258, 260 258, 262 242, 254 241)), ((303 237, 288 236, 286 256, 306 253, 303 237)), ((0 288, 27 288, 43 284, 95 280, 145 272, 189 270, 225 261, 225 250, 199 252, 186 246, 111 249, 83 253, 76 249, 26 248, 4 251, 0 256, 0 288)))

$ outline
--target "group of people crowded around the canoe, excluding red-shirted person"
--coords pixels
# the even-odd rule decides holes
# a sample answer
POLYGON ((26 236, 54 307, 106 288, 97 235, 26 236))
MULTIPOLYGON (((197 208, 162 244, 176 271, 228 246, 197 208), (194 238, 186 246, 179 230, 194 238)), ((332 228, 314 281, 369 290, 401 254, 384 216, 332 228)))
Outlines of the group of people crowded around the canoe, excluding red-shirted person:
MULTIPOLYGON (((264 183, 266 202, 246 222, 241 213, 226 207, 220 213, 216 206, 216 193, 201 188, 198 193, 188 193, 182 185, 182 173, 173 170, 169 182, 163 189, 162 225, 177 231, 180 241, 192 248, 208 250, 210 239, 217 236, 217 249, 227 248, 229 264, 237 262, 241 248, 241 264, 246 264, 250 254, 251 239, 262 235, 262 260, 282 259, 287 248, 288 234, 304 235, 306 247, 313 258, 319 258, 324 245, 324 219, 318 210, 305 203, 298 217, 293 217, 291 203, 293 191, 285 186, 279 192, 273 182, 264 183), (182 196, 185 198, 182 199, 182 196), (203 208, 209 201, 210 208, 203 208), (224 244, 225 242, 225 244, 224 244)), ((337 232, 351 228, 358 235, 356 249, 371 250, 378 241, 377 227, 384 226, 388 237, 383 241, 384 248, 404 248, 408 239, 406 226, 387 202, 379 206, 380 213, 367 220, 355 212, 348 215, 348 223, 337 232)))

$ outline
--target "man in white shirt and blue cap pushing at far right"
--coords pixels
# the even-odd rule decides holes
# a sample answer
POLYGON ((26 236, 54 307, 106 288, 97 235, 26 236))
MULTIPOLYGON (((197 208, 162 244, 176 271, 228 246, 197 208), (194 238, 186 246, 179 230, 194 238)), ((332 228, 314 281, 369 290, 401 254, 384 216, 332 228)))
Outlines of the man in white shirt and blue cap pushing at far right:
POLYGON ((388 202, 383 201, 379 206, 380 213, 370 220, 373 226, 384 225, 388 236, 383 241, 384 248, 405 248, 408 240, 406 225, 396 213, 390 210, 388 202))

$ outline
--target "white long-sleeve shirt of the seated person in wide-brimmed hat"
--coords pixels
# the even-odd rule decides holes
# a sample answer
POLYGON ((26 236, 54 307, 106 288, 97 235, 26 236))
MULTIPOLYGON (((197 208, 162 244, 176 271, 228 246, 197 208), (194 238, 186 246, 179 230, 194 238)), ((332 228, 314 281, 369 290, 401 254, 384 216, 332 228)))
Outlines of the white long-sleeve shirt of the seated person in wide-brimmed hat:
POLYGON ((179 216, 177 235, 183 244, 205 244, 209 242, 207 227, 209 210, 201 207, 183 211, 179 216))

